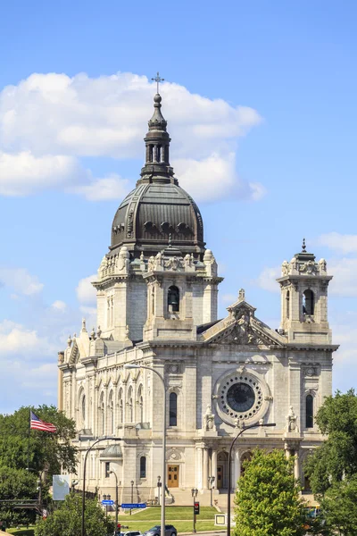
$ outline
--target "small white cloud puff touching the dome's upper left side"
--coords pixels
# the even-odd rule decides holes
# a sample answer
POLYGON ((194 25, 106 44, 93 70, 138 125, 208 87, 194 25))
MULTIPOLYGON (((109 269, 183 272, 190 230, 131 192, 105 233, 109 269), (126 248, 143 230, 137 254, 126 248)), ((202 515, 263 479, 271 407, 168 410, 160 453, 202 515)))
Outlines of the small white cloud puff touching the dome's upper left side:
POLYGON ((104 179, 94 180, 91 184, 71 188, 73 192, 83 195, 88 201, 123 199, 128 194, 129 189, 129 180, 121 179, 119 175, 115 174, 104 179))

